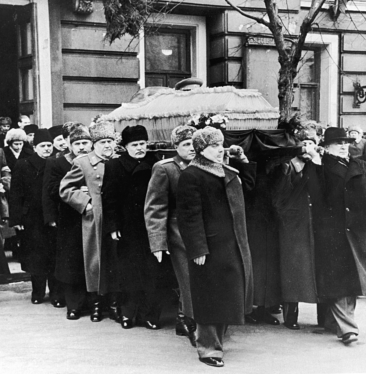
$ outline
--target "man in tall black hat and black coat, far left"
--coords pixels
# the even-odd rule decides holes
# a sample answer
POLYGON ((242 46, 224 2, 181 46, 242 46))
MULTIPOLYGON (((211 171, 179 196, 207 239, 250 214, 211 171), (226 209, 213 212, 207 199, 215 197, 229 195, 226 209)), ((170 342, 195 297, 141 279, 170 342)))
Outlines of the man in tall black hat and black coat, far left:
POLYGON ((10 186, 9 225, 24 230, 20 260, 22 270, 31 273, 33 304, 43 303, 46 283, 51 303, 59 299, 52 246, 55 229, 44 225, 41 202, 44 168, 52 153, 52 142, 47 129, 35 131, 34 154, 16 163, 10 186))

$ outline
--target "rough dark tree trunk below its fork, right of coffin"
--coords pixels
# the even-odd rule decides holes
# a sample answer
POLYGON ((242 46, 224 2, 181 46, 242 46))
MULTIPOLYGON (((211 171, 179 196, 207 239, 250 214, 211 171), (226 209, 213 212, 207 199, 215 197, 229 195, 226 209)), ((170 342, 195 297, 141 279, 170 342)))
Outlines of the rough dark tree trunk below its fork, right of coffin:
POLYGON ((292 117, 292 101, 294 101, 294 79, 297 74, 296 66, 291 59, 280 61, 278 99, 280 109, 280 121, 288 122, 292 117))

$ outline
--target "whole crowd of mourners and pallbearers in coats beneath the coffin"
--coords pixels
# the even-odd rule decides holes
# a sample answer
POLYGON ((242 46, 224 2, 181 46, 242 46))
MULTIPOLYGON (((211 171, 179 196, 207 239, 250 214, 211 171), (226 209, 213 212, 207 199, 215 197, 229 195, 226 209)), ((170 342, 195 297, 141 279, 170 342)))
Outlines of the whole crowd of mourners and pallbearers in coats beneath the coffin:
MULTIPOLYGON (((143 126, 67 122, 18 128, 0 118, 0 204, 16 229, 31 302, 49 288, 66 318, 103 312, 123 329, 159 329, 172 290, 176 334, 220 367, 228 325, 283 312, 297 330, 299 302, 321 327, 357 340, 357 295, 366 295, 366 140, 357 126, 294 132, 293 157, 248 160, 224 148, 220 128, 175 128, 173 158, 147 151, 143 126), (118 134, 119 135, 119 134, 118 134), (7 202, 9 202, 9 209, 7 202)), ((3 242, 1 238, 1 242, 3 242)))

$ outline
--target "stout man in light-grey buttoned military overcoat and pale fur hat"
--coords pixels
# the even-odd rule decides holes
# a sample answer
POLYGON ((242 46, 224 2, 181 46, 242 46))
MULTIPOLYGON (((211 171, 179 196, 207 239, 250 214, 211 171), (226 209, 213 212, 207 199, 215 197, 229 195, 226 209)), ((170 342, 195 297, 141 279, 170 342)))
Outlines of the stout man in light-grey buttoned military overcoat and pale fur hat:
POLYGON ((60 197, 82 215, 86 287, 88 292, 93 292, 94 298, 90 319, 99 322, 102 320, 101 298, 97 296, 100 291, 102 243, 101 190, 104 164, 118 156, 114 153, 115 129, 110 122, 95 123, 89 131, 94 150, 74 159, 71 170, 60 183, 60 197))

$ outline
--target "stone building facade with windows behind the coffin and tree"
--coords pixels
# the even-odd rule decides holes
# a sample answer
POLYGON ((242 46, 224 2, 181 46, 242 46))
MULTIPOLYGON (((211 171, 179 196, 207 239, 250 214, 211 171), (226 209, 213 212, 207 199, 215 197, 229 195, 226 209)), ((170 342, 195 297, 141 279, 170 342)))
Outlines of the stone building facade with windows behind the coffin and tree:
MULTIPOLYGON (((260 15, 263 0, 233 1, 260 15)), ((311 1, 278 1, 290 33, 297 33, 311 1)), ((308 34, 294 86, 294 109, 332 126, 362 126, 366 103, 366 1, 323 7, 308 34), (360 101, 360 100, 359 100, 360 101), (361 100, 362 101, 362 100, 361 100)), ((269 31, 224 0, 188 0, 155 15, 140 40, 104 41, 99 0, 0 0, 0 116, 27 114, 42 127, 76 120, 128 102, 140 88, 170 86, 187 77, 205 85, 258 89, 278 106, 278 53, 269 31)))

